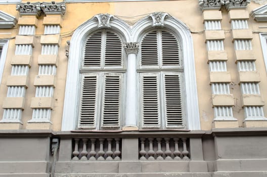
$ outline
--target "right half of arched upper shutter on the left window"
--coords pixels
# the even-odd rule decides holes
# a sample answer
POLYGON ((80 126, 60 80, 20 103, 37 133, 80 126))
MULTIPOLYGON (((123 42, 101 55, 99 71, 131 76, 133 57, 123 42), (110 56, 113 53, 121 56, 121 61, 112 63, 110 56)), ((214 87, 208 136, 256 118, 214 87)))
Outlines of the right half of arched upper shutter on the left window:
POLYGON ((105 37, 105 66, 122 67, 122 41, 112 31, 106 31, 105 37))

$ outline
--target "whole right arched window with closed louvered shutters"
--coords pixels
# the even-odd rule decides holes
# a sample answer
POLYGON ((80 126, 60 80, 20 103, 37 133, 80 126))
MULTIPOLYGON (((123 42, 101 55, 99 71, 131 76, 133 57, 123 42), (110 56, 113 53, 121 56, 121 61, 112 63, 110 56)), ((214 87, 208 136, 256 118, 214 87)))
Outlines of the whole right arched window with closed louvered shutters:
POLYGON ((173 32, 155 28, 141 37, 138 73, 142 128, 185 127, 183 61, 173 32))

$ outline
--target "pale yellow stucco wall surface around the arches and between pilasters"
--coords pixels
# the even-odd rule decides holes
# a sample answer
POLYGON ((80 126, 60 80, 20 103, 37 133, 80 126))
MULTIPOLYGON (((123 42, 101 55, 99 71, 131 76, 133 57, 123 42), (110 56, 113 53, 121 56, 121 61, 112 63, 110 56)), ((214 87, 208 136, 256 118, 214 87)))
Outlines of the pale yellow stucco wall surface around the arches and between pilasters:
MULTIPOLYGON (((24 3, 28 2, 23 1, 24 3)), ((37 2, 37 1, 30 1, 37 2)), ((61 1, 56 1, 61 2, 61 1)), ((250 13, 253 9, 260 5, 250 3, 247 11, 250 13)), ((61 43, 59 49, 59 62, 57 68, 57 86, 54 91, 54 109, 52 112, 53 130, 61 129, 65 81, 67 73, 68 59, 65 56, 66 41, 71 39, 73 32, 79 25, 94 15, 99 13, 109 13, 115 17, 121 18, 130 25, 139 19, 148 16, 153 12, 167 12, 171 16, 181 20, 192 31, 195 68, 197 78, 197 91, 199 99, 199 113, 201 128, 208 130, 212 128, 212 120, 214 118, 211 99, 211 86, 209 83, 209 68, 207 64, 207 51, 204 35, 204 24, 202 12, 199 9, 198 2, 189 1, 157 1, 157 2, 114 2, 114 3, 66 3, 66 14, 62 17, 63 23, 61 28, 61 43)), ((0 5, 0 10, 19 18, 15 5, 0 5)), ((235 106, 233 107, 234 117, 238 119, 239 126, 243 126, 244 114, 242 110, 242 95, 239 86, 238 70, 235 59, 235 50, 231 35, 231 24, 228 12, 221 10, 222 21, 221 28, 225 32, 225 51, 228 55, 227 69, 231 73, 231 94, 233 94, 235 106)), ((23 111, 22 129, 26 128, 27 121, 31 119, 32 109, 30 108, 31 98, 35 97, 35 86, 33 85, 35 76, 38 74, 37 58, 41 52, 40 34, 43 34, 44 27, 42 25, 43 16, 38 17, 36 28, 36 45, 33 49, 33 60, 29 71, 29 86, 26 90, 25 109, 23 111)), ((256 57, 256 69, 260 73, 261 82, 259 83, 260 92, 263 100, 267 101, 267 94, 264 88, 267 87, 266 71, 260 46, 259 34, 257 32, 267 32, 267 28, 259 29, 258 26, 267 26, 267 23, 257 23, 251 17, 249 19, 249 28, 253 31, 252 49, 256 57)), ((0 37, 15 37, 18 34, 18 26, 13 29, 0 29, 0 37), (12 34, 1 34, 12 32, 12 34)), ((0 86, 0 100, 4 100, 7 95, 7 77, 11 73, 11 60, 15 54, 15 39, 11 39, 6 59, 6 65, 3 73, 2 83, 0 86)), ((186 60, 186 59, 185 59, 186 60)), ((0 102, 0 107, 3 103, 0 102)), ((267 106, 264 106, 265 116, 267 115, 267 106)), ((0 109, 0 117, 3 115, 3 109, 0 109)), ((1 119, 1 118, 0 118, 1 119)))

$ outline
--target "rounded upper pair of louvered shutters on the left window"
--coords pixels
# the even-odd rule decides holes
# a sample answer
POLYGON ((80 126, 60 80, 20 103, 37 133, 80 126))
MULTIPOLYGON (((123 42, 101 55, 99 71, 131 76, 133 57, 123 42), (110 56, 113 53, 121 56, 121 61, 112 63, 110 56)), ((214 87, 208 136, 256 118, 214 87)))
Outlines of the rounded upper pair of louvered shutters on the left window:
POLYGON ((122 40, 113 31, 102 29, 91 34, 84 46, 83 68, 123 67, 122 40))

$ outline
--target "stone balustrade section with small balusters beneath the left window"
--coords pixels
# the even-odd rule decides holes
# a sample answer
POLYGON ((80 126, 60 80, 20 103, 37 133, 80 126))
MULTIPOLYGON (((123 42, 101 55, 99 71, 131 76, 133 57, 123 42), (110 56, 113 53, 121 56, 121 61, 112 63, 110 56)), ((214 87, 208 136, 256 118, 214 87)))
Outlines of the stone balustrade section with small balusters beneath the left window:
POLYGON ((75 138, 72 160, 120 160, 120 138, 75 138))

